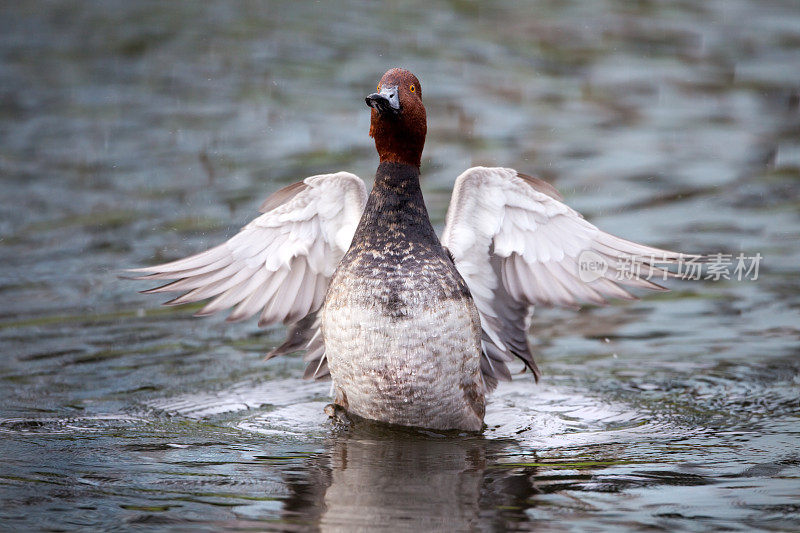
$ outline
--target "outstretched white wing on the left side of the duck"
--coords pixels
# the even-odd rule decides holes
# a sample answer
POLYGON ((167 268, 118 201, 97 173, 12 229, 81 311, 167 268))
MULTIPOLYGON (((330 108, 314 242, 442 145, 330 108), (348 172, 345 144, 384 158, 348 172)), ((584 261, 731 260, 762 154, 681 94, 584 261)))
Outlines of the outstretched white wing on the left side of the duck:
POLYGON ((145 291, 185 291, 168 305, 213 298, 198 316, 233 307, 229 321, 260 312, 259 326, 293 324, 287 341, 269 357, 305 348, 311 376, 323 377, 327 364, 316 311, 366 199, 364 182, 353 174, 311 176, 267 198, 263 214, 219 246, 131 272, 145 274, 138 279, 176 280, 145 291))

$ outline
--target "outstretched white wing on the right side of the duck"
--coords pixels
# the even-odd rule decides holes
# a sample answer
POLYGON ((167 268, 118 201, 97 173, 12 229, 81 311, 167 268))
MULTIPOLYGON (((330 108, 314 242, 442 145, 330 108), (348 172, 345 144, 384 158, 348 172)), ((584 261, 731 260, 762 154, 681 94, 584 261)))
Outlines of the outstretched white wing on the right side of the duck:
POLYGON ((561 202, 549 184, 509 168, 474 167, 456 180, 442 244, 453 256, 481 316, 481 368, 491 389, 507 381, 516 356, 533 371, 527 341, 531 307, 634 299, 621 285, 666 290, 650 276, 686 256, 600 231, 561 202), (579 271, 583 267, 590 270, 579 271))

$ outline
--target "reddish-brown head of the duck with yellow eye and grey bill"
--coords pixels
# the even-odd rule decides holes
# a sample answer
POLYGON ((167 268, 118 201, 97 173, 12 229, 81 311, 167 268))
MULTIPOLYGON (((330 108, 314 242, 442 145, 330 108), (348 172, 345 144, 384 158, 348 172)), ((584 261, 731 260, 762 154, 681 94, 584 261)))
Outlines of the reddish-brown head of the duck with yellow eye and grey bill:
POLYGON ((372 108, 369 135, 375 139, 381 163, 418 167, 428 124, 417 77, 402 68, 390 69, 366 102, 372 108))

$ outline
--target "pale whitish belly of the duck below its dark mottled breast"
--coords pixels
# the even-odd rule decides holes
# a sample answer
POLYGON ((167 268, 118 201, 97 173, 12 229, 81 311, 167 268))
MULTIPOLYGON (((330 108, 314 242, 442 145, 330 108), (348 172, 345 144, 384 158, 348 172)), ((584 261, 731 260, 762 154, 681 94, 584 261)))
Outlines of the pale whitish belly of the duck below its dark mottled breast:
POLYGON ((402 313, 329 294, 322 331, 336 403, 373 420, 435 429, 483 423, 480 322, 466 298, 402 313))

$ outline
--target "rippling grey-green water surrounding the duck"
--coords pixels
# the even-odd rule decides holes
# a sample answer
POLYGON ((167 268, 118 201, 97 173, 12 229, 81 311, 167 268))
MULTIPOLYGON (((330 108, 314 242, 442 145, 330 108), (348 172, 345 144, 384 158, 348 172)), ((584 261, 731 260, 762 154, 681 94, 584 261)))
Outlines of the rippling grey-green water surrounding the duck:
POLYGON ((800 7, 20 2, 0 7, 0 529, 800 529, 800 7), (422 80, 441 227, 475 164, 602 228, 760 253, 755 281, 540 309, 544 372, 480 437, 344 430, 283 331, 119 280, 282 185, 376 157, 422 80))

